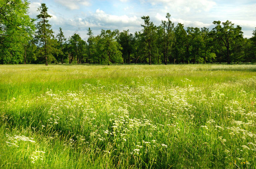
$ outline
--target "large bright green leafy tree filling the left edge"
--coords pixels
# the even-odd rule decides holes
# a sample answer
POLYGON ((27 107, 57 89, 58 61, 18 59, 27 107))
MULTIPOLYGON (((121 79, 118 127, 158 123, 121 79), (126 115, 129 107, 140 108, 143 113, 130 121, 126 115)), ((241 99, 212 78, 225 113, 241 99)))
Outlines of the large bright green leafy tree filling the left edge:
MULTIPOLYGON (((23 63, 26 44, 35 30, 28 0, 0 1, 0 63, 23 63)), ((25 63, 25 62, 24 62, 25 63)))

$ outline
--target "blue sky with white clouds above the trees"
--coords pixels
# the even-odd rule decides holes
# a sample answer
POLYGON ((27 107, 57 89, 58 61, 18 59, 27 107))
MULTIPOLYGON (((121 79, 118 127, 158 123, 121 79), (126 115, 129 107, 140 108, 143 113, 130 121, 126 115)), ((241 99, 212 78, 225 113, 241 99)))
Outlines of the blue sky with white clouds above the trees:
POLYGON ((256 27, 255 0, 31 0, 30 16, 36 18, 37 8, 45 3, 52 15, 50 23, 55 34, 63 28, 68 38, 78 33, 87 39, 90 27, 94 35, 101 29, 141 30, 141 16, 149 15, 155 25, 171 20, 185 27, 214 28, 214 20, 230 20, 242 27, 244 37, 250 38, 256 27))

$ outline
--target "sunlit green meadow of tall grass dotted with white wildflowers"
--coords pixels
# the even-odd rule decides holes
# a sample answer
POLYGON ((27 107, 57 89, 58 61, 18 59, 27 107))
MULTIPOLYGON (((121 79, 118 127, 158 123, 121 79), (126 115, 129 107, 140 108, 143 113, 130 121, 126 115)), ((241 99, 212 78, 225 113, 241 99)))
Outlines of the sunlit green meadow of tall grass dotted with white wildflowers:
POLYGON ((2 65, 0 168, 256 168, 256 65, 2 65))

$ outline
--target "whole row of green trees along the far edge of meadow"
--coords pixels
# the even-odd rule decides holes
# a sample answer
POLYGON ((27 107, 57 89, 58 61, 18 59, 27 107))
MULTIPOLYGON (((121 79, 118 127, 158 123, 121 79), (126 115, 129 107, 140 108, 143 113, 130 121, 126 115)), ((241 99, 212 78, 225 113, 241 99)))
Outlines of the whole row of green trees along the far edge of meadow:
POLYGON ((184 28, 174 25, 167 13, 159 26, 143 16, 142 30, 102 30, 94 35, 89 28, 85 41, 74 34, 65 38, 62 29, 53 35, 47 7, 38 8, 37 24, 29 18, 27 0, 0 2, 0 63, 249 63, 256 61, 256 30, 243 38, 240 26, 214 21, 215 27, 184 28))

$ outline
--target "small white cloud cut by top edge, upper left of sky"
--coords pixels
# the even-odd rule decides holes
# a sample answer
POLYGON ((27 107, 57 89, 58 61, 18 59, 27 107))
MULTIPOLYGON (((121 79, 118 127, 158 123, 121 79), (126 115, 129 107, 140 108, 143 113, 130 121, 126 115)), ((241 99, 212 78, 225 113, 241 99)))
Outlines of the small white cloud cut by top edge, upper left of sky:
POLYGON ((81 5, 89 6, 90 0, 55 0, 56 3, 59 3, 70 10, 76 10, 81 7, 81 5))

